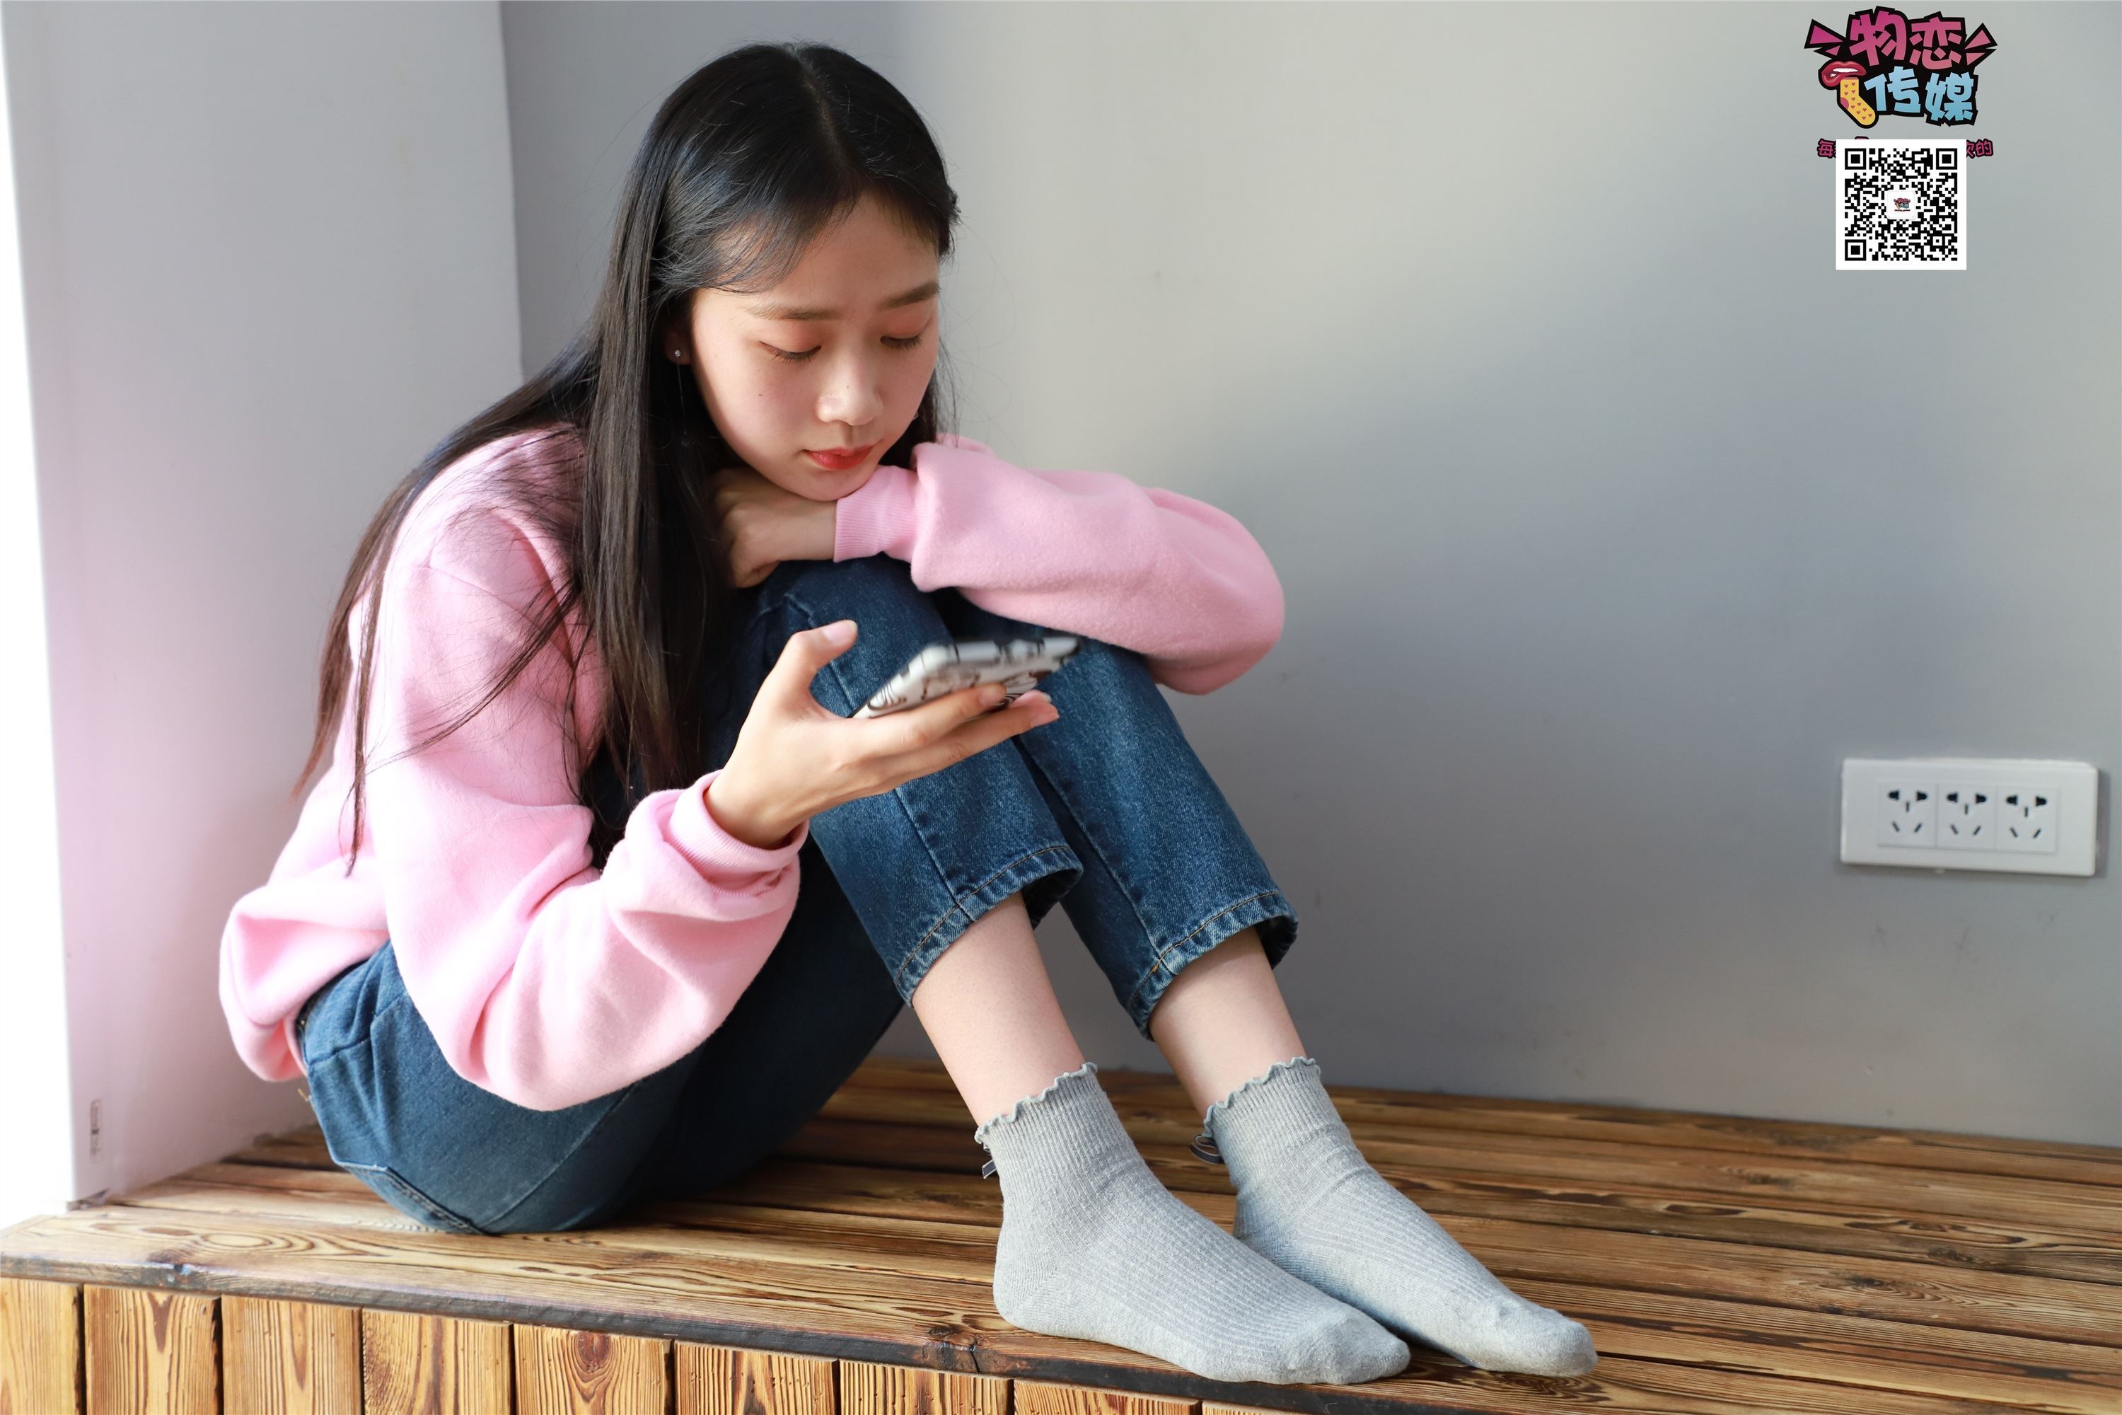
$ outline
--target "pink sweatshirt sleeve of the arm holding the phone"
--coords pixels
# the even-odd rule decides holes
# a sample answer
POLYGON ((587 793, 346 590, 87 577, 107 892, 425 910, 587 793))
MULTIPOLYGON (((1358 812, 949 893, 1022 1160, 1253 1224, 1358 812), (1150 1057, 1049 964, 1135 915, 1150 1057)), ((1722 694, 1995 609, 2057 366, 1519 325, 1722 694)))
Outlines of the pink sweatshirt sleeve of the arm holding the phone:
POLYGON ((643 798, 594 870, 562 749, 558 636, 469 723, 386 762, 477 702, 528 628, 514 590, 433 562, 393 564, 388 579, 365 849, 441 1054, 530 1110, 671 1065, 721 1025, 781 938, 808 823, 770 849, 736 840, 707 810, 709 772, 643 798))

